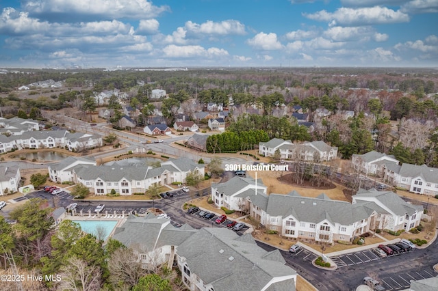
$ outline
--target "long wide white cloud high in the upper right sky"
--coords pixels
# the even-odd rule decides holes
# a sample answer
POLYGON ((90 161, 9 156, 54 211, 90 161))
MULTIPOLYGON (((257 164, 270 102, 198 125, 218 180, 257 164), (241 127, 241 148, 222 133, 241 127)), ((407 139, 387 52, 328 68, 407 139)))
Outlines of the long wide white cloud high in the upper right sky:
POLYGON ((318 21, 326 21, 331 25, 376 25, 388 23, 404 23, 409 21, 409 15, 394 11, 386 7, 375 6, 371 8, 339 8, 335 12, 322 10, 303 16, 318 21))

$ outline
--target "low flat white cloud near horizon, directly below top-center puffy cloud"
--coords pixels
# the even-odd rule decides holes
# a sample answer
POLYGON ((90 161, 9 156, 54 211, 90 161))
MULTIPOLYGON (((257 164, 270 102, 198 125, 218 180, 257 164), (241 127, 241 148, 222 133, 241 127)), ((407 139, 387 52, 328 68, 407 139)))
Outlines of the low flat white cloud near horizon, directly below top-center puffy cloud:
POLYGON ((166 57, 218 57, 227 56, 228 52, 222 48, 208 48, 202 46, 176 46, 170 44, 163 48, 166 57))

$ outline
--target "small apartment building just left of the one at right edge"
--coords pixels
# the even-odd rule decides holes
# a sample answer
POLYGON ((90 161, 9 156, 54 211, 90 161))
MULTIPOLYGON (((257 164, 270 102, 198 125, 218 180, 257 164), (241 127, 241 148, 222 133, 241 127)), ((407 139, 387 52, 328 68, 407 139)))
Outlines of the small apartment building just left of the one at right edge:
POLYGON ((388 156, 374 150, 366 154, 353 154, 351 158, 351 165, 356 171, 378 177, 383 177, 385 165, 398 165, 399 162, 393 155, 388 156))

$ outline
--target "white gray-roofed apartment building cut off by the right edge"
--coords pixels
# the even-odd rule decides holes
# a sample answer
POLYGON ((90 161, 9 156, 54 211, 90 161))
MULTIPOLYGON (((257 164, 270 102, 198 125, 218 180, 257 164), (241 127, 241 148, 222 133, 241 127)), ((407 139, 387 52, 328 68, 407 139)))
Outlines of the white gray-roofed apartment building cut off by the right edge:
POLYGON ((385 165, 383 179, 410 192, 438 195, 438 169, 426 165, 385 165))

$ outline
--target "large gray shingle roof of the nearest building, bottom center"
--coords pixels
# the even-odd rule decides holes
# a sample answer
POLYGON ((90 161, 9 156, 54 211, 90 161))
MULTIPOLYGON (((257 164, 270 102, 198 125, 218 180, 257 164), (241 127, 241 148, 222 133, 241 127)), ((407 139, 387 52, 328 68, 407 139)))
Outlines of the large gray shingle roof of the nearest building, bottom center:
POLYGON ((278 250, 268 253, 225 228, 199 230, 179 245, 177 253, 187 259, 192 273, 216 291, 261 290, 274 277, 296 275, 279 261, 278 250))

